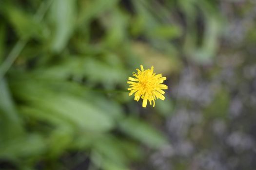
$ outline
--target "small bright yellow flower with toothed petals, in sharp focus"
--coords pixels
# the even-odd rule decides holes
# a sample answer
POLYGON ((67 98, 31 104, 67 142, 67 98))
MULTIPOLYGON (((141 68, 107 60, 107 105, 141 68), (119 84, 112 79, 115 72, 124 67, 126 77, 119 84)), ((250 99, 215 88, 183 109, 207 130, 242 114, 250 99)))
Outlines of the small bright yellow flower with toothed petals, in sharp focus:
POLYGON ((129 96, 135 93, 134 100, 138 102, 138 100, 143 99, 142 107, 147 106, 147 102, 149 101, 150 105, 153 101, 153 107, 155 107, 155 100, 156 98, 164 100, 165 97, 163 94, 165 93, 162 89, 168 89, 167 85, 163 85, 164 80, 166 77, 162 77, 162 74, 153 73, 154 67, 152 66, 151 69, 144 70, 143 66, 140 65, 141 70, 136 69, 138 73, 133 72, 133 77, 129 77, 127 83, 130 84, 129 96))

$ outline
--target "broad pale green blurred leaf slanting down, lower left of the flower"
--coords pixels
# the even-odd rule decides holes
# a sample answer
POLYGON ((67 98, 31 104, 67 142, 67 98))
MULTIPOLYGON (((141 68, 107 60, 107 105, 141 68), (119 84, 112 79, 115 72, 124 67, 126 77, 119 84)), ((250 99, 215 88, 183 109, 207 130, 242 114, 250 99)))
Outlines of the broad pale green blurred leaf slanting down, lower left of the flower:
POLYGON ((113 118, 106 112, 81 97, 58 91, 61 87, 59 85, 50 86, 42 80, 23 77, 20 81, 12 82, 11 87, 15 97, 27 105, 42 110, 45 114, 54 114, 82 130, 105 132, 114 126, 113 118))

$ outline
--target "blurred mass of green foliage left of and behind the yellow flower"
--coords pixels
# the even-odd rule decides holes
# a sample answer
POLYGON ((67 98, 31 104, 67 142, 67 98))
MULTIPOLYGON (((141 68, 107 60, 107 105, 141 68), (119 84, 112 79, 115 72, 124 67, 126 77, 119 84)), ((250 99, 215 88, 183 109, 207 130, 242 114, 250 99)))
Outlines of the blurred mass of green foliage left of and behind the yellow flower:
MULTIPOLYGON (((168 141, 138 115, 127 77, 141 63, 177 73, 180 51, 211 61, 222 24, 205 0, 1 0, 0 160, 57 170, 61 156, 84 152, 91 168, 129 169, 141 146, 168 141)), ((170 99, 156 105, 172 113, 170 99)))

